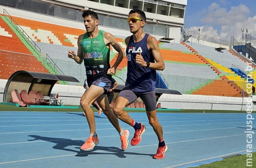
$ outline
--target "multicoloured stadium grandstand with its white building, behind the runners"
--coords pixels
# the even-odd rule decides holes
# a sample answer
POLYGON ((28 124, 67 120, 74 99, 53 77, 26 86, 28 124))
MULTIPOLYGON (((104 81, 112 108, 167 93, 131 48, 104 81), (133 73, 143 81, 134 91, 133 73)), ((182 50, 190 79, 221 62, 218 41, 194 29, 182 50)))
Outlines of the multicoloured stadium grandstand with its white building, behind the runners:
MULTIPOLYGON (((157 73, 158 86, 183 94, 163 95, 159 99, 163 107, 204 109, 209 108, 206 103, 222 102, 225 107, 220 108, 229 109, 234 105, 234 110, 243 109, 242 98, 250 96, 245 86, 248 82, 254 83, 256 64, 237 52, 229 41, 189 31, 184 24, 186 5, 187 0, 1 0, 1 87, 19 70, 69 75, 80 84, 59 81, 54 91, 62 92, 63 97, 66 95, 66 104, 78 104, 83 91, 79 89, 77 95, 80 96, 75 101, 68 98, 72 93, 62 88, 81 88, 86 78, 85 67, 67 57, 68 50, 77 51, 78 36, 86 33, 82 12, 95 11, 99 15, 99 29, 112 33, 125 50, 124 39, 131 35, 127 16, 131 9, 139 8, 147 16, 143 30, 159 41, 166 64, 166 68, 157 73), (244 71, 247 62, 252 66, 250 80, 244 77, 248 75, 244 71), (177 100, 180 106, 174 105, 177 100), (202 107, 186 106, 193 102, 201 103, 202 107)), ((117 52, 111 48, 110 65, 116 58, 117 52)), ((126 73, 127 58, 124 57, 114 77, 117 83, 124 84, 126 73)))

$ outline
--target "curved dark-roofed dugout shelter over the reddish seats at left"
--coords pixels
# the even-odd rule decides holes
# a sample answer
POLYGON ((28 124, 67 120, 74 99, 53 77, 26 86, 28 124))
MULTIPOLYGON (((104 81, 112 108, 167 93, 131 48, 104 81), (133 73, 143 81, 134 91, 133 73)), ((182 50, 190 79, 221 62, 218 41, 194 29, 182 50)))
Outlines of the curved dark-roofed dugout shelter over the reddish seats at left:
POLYGON ((3 102, 12 102, 11 92, 16 89, 19 93, 22 90, 27 92, 34 90, 41 91, 44 96, 50 96, 52 88, 59 80, 67 82, 79 82, 73 76, 58 75, 52 73, 16 71, 8 79, 5 85, 3 102))

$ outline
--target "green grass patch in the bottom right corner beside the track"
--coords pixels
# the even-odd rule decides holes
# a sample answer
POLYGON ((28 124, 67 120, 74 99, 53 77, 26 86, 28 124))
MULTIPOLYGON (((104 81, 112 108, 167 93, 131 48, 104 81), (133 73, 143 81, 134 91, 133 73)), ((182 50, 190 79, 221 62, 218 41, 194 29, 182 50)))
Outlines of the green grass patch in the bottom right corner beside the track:
MULTIPOLYGON (((234 156, 227 159, 223 159, 222 161, 216 161, 206 165, 200 165, 198 167, 190 167, 190 168, 246 168, 246 155, 234 156)), ((251 167, 256 167, 256 152, 252 153, 252 162, 251 167)))

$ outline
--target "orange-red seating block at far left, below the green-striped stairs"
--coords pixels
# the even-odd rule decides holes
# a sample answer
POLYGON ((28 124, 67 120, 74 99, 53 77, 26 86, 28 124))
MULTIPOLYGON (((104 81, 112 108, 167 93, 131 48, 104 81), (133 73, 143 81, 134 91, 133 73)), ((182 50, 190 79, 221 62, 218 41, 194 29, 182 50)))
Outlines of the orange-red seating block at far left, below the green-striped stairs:
POLYGON ((14 31, 2 20, 0 17, 1 28, 4 28, 11 37, 1 36, 1 40, 5 41, 0 43, 0 49, 6 51, 0 51, 0 78, 9 79, 9 77, 18 70, 25 71, 49 71, 38 61, 28 48, 22 43, 20 38, 14 33, 14 31), (11 51, 11 52, 8 52, 11 51), (18 53, 17 53, 18 52, 18 53))

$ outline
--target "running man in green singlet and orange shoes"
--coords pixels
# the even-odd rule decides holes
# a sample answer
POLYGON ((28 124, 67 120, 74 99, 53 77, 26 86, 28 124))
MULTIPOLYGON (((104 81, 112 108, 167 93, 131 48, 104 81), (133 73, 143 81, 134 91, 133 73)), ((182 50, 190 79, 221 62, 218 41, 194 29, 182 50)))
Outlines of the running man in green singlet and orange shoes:
POLYGON ((98 29, 99 19, 94 11, 87 10, 83 12, 82 16, 87 33, 78 37, 77 55, 73 50, 68 51, 68 57, 74 59, 76 63, 84 62, 89 86, 80 100, 80 105, 86 114, 90 128, 89 138, 81 146, 81 149, 91 151, 95 145, 99 144, 95 129, 94 112, 90 107, 96 100, 110 123, 119 132, 122 142, 121 148, 125 150, 129 145, 129 131, 122 130, 107 98, 107 92, 111 87, 111 75, 115 74, 117 66, 121 63, 124 50, 112 34, 98 29), (118 52, 118 57, 112 67, 109 64, 110 45, 118 52))

